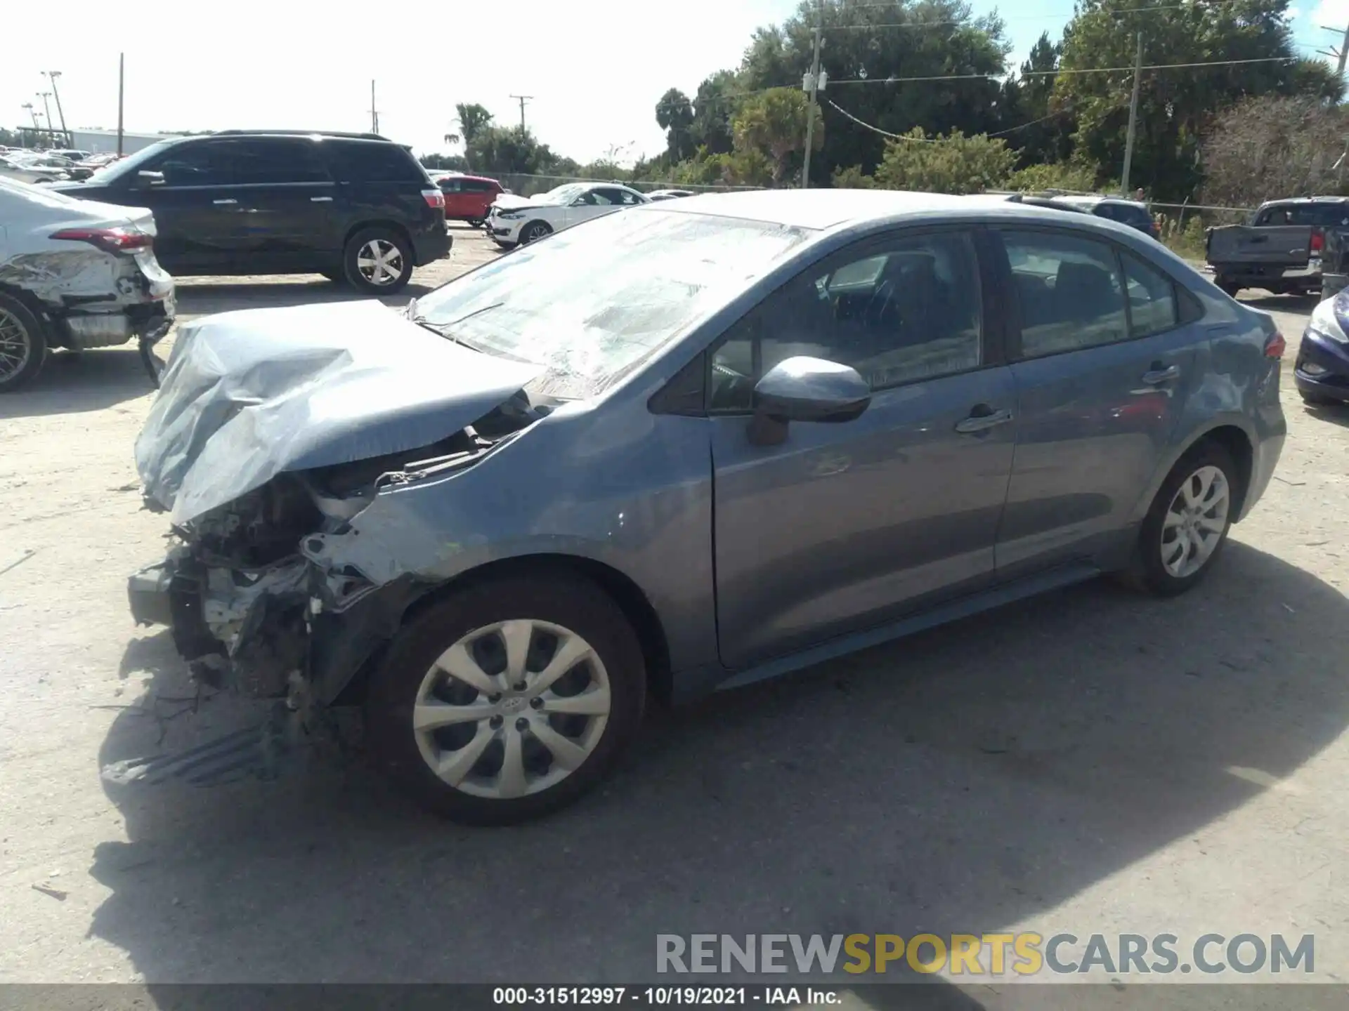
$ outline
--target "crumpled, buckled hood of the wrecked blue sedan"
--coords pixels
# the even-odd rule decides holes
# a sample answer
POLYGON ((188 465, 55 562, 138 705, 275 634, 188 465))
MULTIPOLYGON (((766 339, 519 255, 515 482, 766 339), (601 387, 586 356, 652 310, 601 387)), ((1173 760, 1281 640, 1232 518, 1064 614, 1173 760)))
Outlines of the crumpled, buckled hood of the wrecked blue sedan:
POLYGON ((542 371, 374 301, 202 317, 179 326, 136 470, 185 523, 286 470, 430 445, 542 371))

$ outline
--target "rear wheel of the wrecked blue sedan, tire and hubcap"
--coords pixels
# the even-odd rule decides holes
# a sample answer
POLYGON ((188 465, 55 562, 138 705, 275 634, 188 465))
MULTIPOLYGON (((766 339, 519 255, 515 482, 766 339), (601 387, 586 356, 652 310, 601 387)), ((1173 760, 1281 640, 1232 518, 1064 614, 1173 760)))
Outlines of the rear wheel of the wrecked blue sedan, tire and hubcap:
POLYGON ((1232 454, 1219 443, 1187 453, 1152 500, 1126 580, 1163 597, 1199 582, 1228 541, 1238 485, 1232 454))

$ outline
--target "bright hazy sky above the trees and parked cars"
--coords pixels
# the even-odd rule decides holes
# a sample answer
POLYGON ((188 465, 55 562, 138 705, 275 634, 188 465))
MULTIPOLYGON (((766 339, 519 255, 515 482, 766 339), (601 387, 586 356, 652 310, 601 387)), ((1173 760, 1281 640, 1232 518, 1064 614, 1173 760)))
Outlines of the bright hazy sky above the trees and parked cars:
MULTIPOLYGON (((1294 19, 1304 53, 1338 42, 1318 26, 1349 22, 1349 0, 1318 1, 1294 19)), ((1071 16, 1072 0, 1043 4, 996 4, 1017 62, 1071 16)), ((977 11, 993 8, 975 0, 977 11)), ((445 148, 455 102, 482 102, 517 123, 511 96, 526 94, 526 121, 560 154, 631 160, 664 147, 653 109, 666 88, 692 94, 707 74, 739 62, 757 26, 795 9, 796 0, 681 0, 668 9, 514 0, 476 13, 449 5, 355 18, 316 15, 297 0, 231 0, 221 16, 219 7, 163 0, 152 18, 128 18, 107 0, 62 0, 53 31, 51 8, 9 3, 5 35, 24 44, 0 61, 0 125, 31 123, 23 102, 40 116, 40 71, 61 70, 67 125, 115 127, 124 51, 130 131, 368 129, 374 78, 382 132, 418 151, 445 148)))

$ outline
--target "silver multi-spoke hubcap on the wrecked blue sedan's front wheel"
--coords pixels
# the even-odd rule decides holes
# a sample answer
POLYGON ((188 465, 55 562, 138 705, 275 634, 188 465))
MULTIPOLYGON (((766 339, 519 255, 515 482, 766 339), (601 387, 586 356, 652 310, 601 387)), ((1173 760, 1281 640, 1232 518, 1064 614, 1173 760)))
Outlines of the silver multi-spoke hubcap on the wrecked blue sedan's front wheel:
POLYGON ((608 674, 588 642, 549 621, 500 621, 465 635, 426 671, 413 733, 445 783, 507 799, 580 768, 608 710, 608 674))

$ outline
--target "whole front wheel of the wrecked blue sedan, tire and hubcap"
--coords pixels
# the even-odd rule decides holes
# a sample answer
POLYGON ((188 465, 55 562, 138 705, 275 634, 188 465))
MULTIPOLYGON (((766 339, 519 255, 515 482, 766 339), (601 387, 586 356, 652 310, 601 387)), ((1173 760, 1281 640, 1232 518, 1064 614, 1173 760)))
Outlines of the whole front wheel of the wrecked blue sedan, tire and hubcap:
POLYGON ((598 783, 642 716, 646 671, 623 612, 587 580, 498 578, 428 608, 366 700, 379 766, 422 806, 502 825, 598 783))

